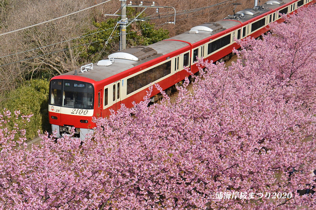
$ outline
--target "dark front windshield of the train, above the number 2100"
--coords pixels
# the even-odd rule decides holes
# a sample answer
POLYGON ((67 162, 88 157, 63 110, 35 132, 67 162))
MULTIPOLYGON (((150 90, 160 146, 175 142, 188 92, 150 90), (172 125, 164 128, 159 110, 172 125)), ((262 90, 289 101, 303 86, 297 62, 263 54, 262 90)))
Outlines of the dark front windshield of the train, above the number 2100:
POLYGON ((49 104, 68 108, 93 109, 94 88, 91 83, 52 80, 49 104))

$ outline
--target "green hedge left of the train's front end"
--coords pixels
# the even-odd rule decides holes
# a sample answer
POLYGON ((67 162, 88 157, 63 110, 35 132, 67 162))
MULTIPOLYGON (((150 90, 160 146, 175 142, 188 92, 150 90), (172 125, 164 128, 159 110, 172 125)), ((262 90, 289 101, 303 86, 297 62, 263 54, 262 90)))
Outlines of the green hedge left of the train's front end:
POLYGON ((0 104, 1 113, 5 108, 11 113, 19 110, 24 115, 33 114, 31 121, 26 125, 22 124, 22 121, 17 121, 19 128, 26 129, 26 137, 33 139, 37 135, 37 130, 43 132, 51 129, 48 122, 48 93, 49 81, 25 81, 23 85, 5 95, 5 100, 0 104))

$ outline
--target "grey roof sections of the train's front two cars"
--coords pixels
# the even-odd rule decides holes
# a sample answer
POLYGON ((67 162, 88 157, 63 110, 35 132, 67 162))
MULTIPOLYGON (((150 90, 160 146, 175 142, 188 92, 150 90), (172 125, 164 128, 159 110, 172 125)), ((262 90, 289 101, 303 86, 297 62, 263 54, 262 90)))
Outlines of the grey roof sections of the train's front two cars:
MULTIPOLYGON (((101 81, 106 78, 117 75, 119 73, 122 73, 123 71, 131 69, 137 65, 141 65, 148 61, 167 55, 168 53, 174 52, 178 49, 188 47, 189 44, 185 42, 194 44, 196 42, 199 42, 203 39, 210 37, 211 35, 223 32, 227 28, 231 28, 239 24, 240 23, 237 21, 226 20, 220 20, 215 23, 205 23, 201 26, 204 26, 206 28, 212 28, 211 26, 215 25, 217 27, 217 30, 214 30, 214 32, 210 32, 205 30, 199 30, 200 28, 193 27, 196 30, 195 32, 192 32, 192 30, 189 32, 184 32, 174 37, 165 39, 161 42, 148 45, 146 47, 137 46, 134 48, 128 48, 123 51, 109 55, 108 58, 110 60, 112 59, 112 61, 114 60, 113 63, 109 60, 102 60, 99 63, 102 65, 97 65, 97 63, 93 64, 93 69, 89 71, 86 71, 84 73, 78 71, 78 76, 86 77, 94 81, 101 81), (175 40, 181 40, 185 42, 179 42, 175 40)), ((65 75, 74 75, 74 71, 70 71, 65 75)))

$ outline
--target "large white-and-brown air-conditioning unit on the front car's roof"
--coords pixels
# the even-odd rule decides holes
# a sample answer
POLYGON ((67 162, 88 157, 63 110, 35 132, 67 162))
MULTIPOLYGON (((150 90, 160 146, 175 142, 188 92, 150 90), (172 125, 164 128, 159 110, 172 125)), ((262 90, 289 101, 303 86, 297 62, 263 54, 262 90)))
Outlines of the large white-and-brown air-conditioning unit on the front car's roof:
POLYGON ((157 54, 157 51, 153 48, 146 47, 146 46, 136 46, 136 47, 124 49, 120 52, 112 53, 108 56, 108 58, 140 61, 142 59, 148 58, 156 54, 157 54))

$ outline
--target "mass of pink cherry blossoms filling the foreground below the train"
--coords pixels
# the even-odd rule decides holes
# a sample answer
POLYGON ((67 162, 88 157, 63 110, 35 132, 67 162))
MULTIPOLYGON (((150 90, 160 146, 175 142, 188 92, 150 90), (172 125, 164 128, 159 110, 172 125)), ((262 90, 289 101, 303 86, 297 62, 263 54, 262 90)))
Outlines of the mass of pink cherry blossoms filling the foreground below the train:
POLYGON ((6 124, 28 118, 5 111, 0 209, 315 209, 298 192, 316 186, 315 10, 242 41, 228 68, 200 60, 176 103, 155 85, 160 103, 96 119, 83 143, 46 134, 27 149, 6 124))

